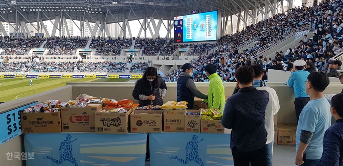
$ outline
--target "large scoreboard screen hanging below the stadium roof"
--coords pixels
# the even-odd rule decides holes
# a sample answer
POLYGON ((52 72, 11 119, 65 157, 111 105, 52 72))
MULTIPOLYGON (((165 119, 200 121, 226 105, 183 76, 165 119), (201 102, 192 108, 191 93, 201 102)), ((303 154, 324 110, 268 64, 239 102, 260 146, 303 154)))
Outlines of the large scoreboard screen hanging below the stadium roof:
POLYGON ((174 17, 174 43, 217 40, 218 11, 174 17))

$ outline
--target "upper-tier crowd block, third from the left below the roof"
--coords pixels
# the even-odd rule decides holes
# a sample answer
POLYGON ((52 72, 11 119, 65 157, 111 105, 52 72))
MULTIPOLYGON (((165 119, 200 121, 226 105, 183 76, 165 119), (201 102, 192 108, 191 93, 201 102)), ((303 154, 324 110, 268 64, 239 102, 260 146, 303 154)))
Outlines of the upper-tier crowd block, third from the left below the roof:
POLYGON ((96 48, 95 55, 117 55, 121 53, 122 49, 130 48, 132 45, 132 39, 124 39, 118 37, 118 39, 93 38, 89 48, 96 48))

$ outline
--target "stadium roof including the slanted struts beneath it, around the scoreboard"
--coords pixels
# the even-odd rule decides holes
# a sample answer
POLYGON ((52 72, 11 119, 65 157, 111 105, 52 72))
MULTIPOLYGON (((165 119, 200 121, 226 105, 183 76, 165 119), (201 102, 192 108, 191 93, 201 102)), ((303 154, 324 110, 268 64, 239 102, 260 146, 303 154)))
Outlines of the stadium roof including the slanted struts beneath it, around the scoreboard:
MULTIPOLYGON (((288 8, 290 8, 295 0, 286 1, 289 5, 288 8)), ((195 10, 200 13, 218 10, 221 14, 219 17, 225 18, 226 16, 221 24, 224 25, 221 27, 221 32, 224 32, 223 29, 226 28, 228 16, 237 16, 239 18, 237 19, 238 24, 243 21, 247 25, 248 18, 251 18, 252 23, 255 24, 260 14, 263 18, 268 18, 276 14, 280 7, 284 11, 282 0, 1 0, 0 21, 16 24, 10 24, 14 29, 12 35, 21 30, 26 36, 26 33, 30 35, 26 26, 27 23, 37 22, 37 28, 34 28, 38 32, 39 29, 44 29, 45 33, 48 34, 43 21, 53 23, 51 20, 55 20, 51 34, 54 36, 56 30, 60 31, 61 25, 66 25, 66 19, 71 19, 75 25, 77 25, 77 21, 80 21, 78 29, 81 31, 82 37, 84 22, 92 31, 92 36, 96 34, 98 28, 101 31, 101 36, 105 33, 108 36, 107 24, 111 23, 118 23, 121 27, 121 34, 123 31, 125 36, 125 32, 128 30, 131 36, 128 21, 143 19, 143 21, 139 21, 141 25, 139 34, 143 29, 146 36, 147 29, 149 28, 151 31, 150 22, 152 22, 152 27, 155 30, 153 36, 157 37, 156 30, 159 31, 161 24, 168 30, 168 36, 173 29, 174 17, 188 15, 195 10), (154 19, 151 18, 159 19, 157 26, 154 19), (162 20, 168 20, 167 25, 162 20), (89 22, 96 23, 94 30, 91 29, 89 22)), ((69 30, 66 29, 67 36, 69 36, 69 30)), ((0 24, 0 32, 5 33, 2 24, 0 24)))

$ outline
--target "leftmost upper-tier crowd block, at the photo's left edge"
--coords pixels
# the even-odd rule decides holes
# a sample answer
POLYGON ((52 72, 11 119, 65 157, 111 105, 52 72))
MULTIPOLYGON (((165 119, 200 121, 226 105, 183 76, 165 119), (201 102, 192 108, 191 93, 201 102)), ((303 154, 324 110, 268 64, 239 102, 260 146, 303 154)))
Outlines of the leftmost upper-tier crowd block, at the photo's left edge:
POLYGON ((0 36, 0 55, 25 55, 31 48, 39 48, 45 39, 32 37, 3 37, 0 36))

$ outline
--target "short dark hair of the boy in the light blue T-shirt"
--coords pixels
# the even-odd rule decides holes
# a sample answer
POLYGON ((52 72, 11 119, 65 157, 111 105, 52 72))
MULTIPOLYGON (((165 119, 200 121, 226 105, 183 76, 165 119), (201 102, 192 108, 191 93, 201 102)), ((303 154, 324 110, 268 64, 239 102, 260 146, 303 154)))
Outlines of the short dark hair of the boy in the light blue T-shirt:
POLYGON ((323 72, 312 72, 307 76, 307 80, 315 91, 324 92, 326 87, 330 84, 329 77, 323 72))

